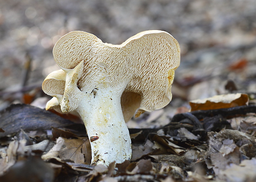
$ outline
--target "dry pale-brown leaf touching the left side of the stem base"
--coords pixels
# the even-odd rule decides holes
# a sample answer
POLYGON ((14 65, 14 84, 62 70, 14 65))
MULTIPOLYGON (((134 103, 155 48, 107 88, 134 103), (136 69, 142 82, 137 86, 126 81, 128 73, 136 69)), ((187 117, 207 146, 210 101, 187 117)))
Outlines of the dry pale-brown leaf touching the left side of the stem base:
POLYGON ((59 157, 62 160, 71 160, 77 164, 90 164, 91 149, 88 138, 64 139, 59 137, 57 143, 42 159, 48 160, 59 157))

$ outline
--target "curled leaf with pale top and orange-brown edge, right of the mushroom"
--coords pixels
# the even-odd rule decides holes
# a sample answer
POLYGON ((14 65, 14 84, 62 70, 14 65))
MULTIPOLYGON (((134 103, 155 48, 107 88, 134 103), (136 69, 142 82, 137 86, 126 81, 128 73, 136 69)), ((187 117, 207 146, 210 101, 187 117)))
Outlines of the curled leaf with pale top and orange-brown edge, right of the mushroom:
POLYGON ((248 105, 248 101, 249 97, 247 94, 223 94, 190 101, 190 107, 191 111, 230 108, 248 105))

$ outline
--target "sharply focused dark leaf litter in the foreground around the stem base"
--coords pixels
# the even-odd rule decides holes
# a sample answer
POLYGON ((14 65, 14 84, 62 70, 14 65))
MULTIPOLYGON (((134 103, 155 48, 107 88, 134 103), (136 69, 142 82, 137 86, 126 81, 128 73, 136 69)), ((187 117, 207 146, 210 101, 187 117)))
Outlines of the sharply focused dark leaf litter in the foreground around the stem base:
MULTIPOLYGON (((22 112, 31 106, 12 105, 8 110, 17 108, 15 115, 19 116, 26 114, 22 112)), ((0 118, 3 131, 0 179, 15 180, 10 173, 20 170, 17 165, 24 168, 39 165, 48 175, 33 171, 37 174, 36 180, 56 182, 63 179, 87 182, 254 180, 255 173, 247 173, 256 165, 255 120, 248 119, 255 117, 254 108, 248 105, 178 113, 163 127, 129 129, 132 160, 112 163, 108 167, 90 165, 90 142, 80 124, 69 120, 62 123, 65 119, 57 115, 53 121, 49 113, 36 108, 33 114, 26 115, 23 122, 26 127, 22 127, 25 131, 17 127, 10 130, 3 122, 15 121, 11 112, 9 117, 4 113, 0 118), (36 133, 31 133, 34 115, 39 120, 43 118, 45 125, 34 128, 36 133), (232 124, 237 118, 240 122, 232 124), (232 128, 237 125, 239 127, 232 128)), ((19 121, 19 117, 16 118, 19 121)))

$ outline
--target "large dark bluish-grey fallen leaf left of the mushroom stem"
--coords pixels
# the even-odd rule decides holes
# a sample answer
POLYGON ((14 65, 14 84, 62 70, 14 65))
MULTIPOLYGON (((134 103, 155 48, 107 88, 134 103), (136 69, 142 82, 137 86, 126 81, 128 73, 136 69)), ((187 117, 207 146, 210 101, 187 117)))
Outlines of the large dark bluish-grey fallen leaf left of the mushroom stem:
POLYGON ((0 138, 9 134, 17 133, 20 129, 24 131, 46 130, 51 127, 65 127, 73 122, 65 120, 58 115, 43 109, 26 105, 13 104, 0 113, 0 138))

